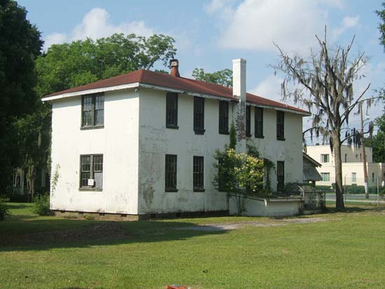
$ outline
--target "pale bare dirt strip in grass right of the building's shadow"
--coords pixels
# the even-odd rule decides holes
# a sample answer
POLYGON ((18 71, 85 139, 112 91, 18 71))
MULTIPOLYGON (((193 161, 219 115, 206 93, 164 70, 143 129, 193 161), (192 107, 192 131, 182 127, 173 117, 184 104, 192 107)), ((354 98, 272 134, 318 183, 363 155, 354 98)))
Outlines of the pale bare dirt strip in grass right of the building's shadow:
POLYGON ((176 230, 197 230, 197 231, 228 231, 237 230, 241 227, 253 226, 253 227, 276 227, 285 226, 289 224, 307 224, 325 222, 326 218, 286 218, 286 219, 272 219, 267 222, 242 222, 242 223, 227 223, 227 224, 207 224, 192 227, 178 227, 176 230))

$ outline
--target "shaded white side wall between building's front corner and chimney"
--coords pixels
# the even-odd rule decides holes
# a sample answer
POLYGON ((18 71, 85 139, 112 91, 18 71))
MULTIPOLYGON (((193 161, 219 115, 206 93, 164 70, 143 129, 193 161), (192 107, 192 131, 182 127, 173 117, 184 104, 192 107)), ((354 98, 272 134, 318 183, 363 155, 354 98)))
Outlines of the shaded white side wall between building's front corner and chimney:
MULTIPOLYGON (((139 213, 227 210, 225 193, 212 184, 214 152, 229 143, 228 135, 218 133, 218 100, 204 100, 206 132, 200 135, 193 130, 192 96, 179 94, 179 129, 167 129, 166 92, 139 93, 139 213), (166 154, 177 155, 178 192, 165 192, 166 154), (204 192, 193 192, 194 155, 204 157, 204 192)), ((231 104, 229 113, 231 121, 231 104)))

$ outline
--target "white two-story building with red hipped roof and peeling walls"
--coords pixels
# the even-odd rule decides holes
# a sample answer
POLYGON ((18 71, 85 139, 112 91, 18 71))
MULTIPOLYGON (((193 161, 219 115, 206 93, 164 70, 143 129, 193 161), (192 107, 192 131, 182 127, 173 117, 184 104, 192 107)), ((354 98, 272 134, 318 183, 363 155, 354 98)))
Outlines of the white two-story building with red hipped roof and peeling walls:
POLYGON ((54 211, 151 216, 225 213, 212 184, 214 152, 246 143, 276 165, 272 189, 302 182, 307 111, 246 94, 246 61, 233 61, 233 89, 138 70, 43 98, 52 104, 54 211))

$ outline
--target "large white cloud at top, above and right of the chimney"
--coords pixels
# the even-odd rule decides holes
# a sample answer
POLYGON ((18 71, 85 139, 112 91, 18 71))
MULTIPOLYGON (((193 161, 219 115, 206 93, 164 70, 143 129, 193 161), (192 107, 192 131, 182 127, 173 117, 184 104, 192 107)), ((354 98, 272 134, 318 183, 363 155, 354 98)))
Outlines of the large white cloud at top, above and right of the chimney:
MULTIPOLYGON (((322 36, 328 23, 327 8, 343 8, 337 0, 244 0, 237 7, 212 0, 205 10, 221 22, 219 44, 276 52, 273 42, 288 51, 304 52, 322 36), (215 14, 214 14, 215 12, 215 14)), ((354 25, 356 17, 345 17, 344 25, 354 25)))

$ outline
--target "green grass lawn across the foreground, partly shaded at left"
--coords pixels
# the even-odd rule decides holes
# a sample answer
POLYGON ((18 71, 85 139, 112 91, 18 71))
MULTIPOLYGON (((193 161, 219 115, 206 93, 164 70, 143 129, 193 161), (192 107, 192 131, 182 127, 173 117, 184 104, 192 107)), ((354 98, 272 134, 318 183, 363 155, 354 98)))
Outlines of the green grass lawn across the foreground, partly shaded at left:
POLYGON ((0 288, 384 288, 385 206, 272 218, 0 222, 0 288), (306 221, 314 220, 314 223, 306 221), (317 220, 317 222, 315 222, 317 220), (224 224, 235 230, 197 229, 224 224))

